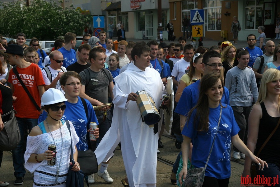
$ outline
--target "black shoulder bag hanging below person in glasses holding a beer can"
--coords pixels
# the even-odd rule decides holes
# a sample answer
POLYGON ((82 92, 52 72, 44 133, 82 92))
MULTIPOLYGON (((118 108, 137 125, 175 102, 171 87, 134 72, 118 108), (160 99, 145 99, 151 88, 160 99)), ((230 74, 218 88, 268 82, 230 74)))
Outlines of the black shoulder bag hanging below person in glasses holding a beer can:
POLYGON ((85 175, 98 172, 97 159, 93 151, 78 151, 78 162, 85 175))

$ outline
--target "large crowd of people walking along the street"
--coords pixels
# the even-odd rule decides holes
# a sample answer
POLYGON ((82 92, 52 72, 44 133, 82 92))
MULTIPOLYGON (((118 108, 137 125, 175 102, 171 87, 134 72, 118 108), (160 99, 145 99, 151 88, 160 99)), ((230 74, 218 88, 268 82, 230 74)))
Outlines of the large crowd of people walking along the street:
MULTIPOLYGON (((188 37, 187 20, 183 24, 188 37)), ((235 18, 234 36, 238 23, 235 18)), ((280 45, 265 41, 263 26, 258 28, 260 36, 250 34, 248 46, 240 49, 229 41, 210 48, 193 46, 184 36, 169 45, 127 42, 123 25, 118 27, 117 49, 111 37, 112 23, 109 38, 105 31, 100 31, 99 38, 85 34, 77 51, 73 49, 76 35, 71 32, 58 36, 49 55, 40 50, 37 38, 26 46, 22 32, 15 44, 1 43, 0 112, 14 108, 21 133, 20 144, 12 150, 15 185, 23 184, 27 169, 34 173, 33 186, 65 186, 72 165, 72 141, 72 170, 80 170, 77 151, 90 149, 100 164, 97 175, 113 183, 108 165, 119 145, 127 175, 122 185, 156 186, 156 157, 164 147, 164 123, 150 128, 135 101, 140 99, 136 92, 145 90, 159 109, 167 94, 168 77, 175 93, 173 115, 178 117, 172 126, 180 129, 174 132, 175 147, 182 150, 170 176, 173 185, 182 186, 190 167, 208 163, 203 186, 228 186, 231 155, 245 159, 243 175, 250 176, 252 161, 259 175, 280 175, 279 128, 256 155, 280 118, 280 45), (92 108, 107 103, 113 107, 92 108), (97 141, 89 140, 90 122, 98 125, 97 141), (55 144, 55 152, 48 150, 49 144, 55 144), (209 159, 205 152, 211 155, 209 159), (56 164, 48 165, 54 157, 56 164)), ((171 21, 168 29, 173 42, 171 21)), ((168 99, 165 105, 170 104, 168 99)), ((7 120, 0 118, 0 130, 7 120)), ((0 156, 1 163, 2 151, 0 156)), ((88 182, 95 183, 94 174, 88 182)), ((8 185, 0 181, 0 186, 8 185)))

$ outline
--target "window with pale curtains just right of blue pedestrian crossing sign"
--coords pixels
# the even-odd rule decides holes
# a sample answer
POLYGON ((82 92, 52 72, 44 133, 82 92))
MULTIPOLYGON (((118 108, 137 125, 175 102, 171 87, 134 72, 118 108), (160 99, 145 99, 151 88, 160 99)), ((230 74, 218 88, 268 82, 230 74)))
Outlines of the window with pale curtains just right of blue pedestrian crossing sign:
POLYGON ((221 30, 221 1, 203 0, 204 25, 207 31, 221 30))

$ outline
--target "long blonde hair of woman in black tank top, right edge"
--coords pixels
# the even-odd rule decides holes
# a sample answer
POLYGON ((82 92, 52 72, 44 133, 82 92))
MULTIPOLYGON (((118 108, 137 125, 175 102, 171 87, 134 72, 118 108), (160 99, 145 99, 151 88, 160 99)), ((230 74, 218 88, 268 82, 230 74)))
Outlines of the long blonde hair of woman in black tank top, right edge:
MULTIPOLYGON (((273 82, 275 80, 280 79, 280 71, 277 69, 270 68, 266 70, 262 76, 261 84, 259 87, 259 97, 256 104, 260 104, 264 102, 264 99, 267 96, 267 84, 269 82, 273 82)), ((280 95, 278 96, 278 104, 277 104, 278 111, 280 109, 280 95)))

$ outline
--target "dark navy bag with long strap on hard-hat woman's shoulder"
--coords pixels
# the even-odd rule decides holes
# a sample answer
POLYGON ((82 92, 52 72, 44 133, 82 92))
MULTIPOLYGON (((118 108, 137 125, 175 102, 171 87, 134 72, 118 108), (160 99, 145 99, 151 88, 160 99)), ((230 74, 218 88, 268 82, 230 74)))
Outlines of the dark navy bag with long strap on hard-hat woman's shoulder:
MULTIPOLYGON (((70 132, 70 137, 71 137, 71 130, 70 130, 70 124, 69 121, 65 121, 67 128, 70 132)), ((89 187, 88 181, 87 181, 87 176, 84 174, 84 172, 82 170, 79 171, 73 171, 71 170, 72 167, 75 164, 75 161, 73 159, 73 148, 72 148, 72 138, 71 138, 71 162, 72 165, 69 166, 68 169, 68 175, 67 175, 67 179, 66 179, 66 186, 67 187, 84 187, 84 179, 86 180, 86 184, 87 187, 89 187)))

